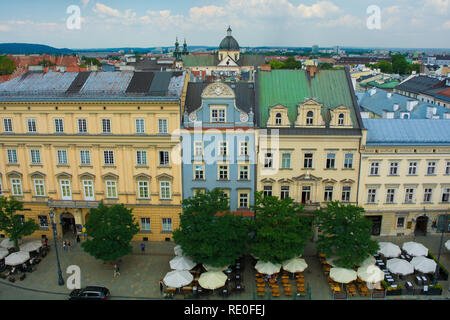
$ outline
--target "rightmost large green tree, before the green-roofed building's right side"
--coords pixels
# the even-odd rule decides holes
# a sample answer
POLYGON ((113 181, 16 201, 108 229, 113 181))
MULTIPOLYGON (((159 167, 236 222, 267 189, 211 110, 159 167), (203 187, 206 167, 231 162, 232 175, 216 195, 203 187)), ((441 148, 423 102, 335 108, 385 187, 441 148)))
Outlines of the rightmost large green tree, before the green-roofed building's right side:
POLYGON ((327 257, 336 256, 338 267, 354 268, 379 249, 378 242, 371 239, 372 222, 363 212, 361 207, 338 201, 317 212, 316 223, 321 230, 317 250, 327 257))

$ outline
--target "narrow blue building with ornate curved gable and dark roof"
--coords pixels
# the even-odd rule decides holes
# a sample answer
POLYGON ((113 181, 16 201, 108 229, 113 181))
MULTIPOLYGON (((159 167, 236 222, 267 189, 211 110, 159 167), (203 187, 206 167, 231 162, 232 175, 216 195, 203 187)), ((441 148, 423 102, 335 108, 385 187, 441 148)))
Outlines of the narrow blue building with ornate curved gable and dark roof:
POLYGON ((182 121, 183 198, 220 188, 250 215, 255 193, 253 83, 189 83, 182 121))

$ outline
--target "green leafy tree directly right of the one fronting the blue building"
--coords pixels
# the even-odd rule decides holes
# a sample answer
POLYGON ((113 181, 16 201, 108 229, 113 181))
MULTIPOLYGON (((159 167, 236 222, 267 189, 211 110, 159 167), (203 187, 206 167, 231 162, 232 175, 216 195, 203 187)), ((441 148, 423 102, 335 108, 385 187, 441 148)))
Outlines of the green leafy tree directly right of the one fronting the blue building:
POLYGON ((251 252, 263 261, 282 263, 303 253, 312 237, 312 218, 303 214, 303 205, 291 198, 280 200, 256 193, 251 252))

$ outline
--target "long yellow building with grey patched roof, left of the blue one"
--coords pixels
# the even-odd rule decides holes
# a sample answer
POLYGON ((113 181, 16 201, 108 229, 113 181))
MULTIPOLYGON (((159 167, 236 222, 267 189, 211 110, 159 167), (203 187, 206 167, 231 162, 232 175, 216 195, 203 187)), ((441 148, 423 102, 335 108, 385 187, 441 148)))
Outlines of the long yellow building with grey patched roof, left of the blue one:
POLYGON ((180 127, 185 74, 103 74, 71 81, 68 74, 31 74, 0 88, 1 195, 24 202, 20 214, 40 225, 33 238, 52 237, 50 210, 59 238, 74 228, 82 235, 90 208, 102 201, 133 209, 140 226, 134 240, 169 241, 182 211, 179 137, 172 133, 180 127), (61 92, 47 90, 47 77, 61 92))

